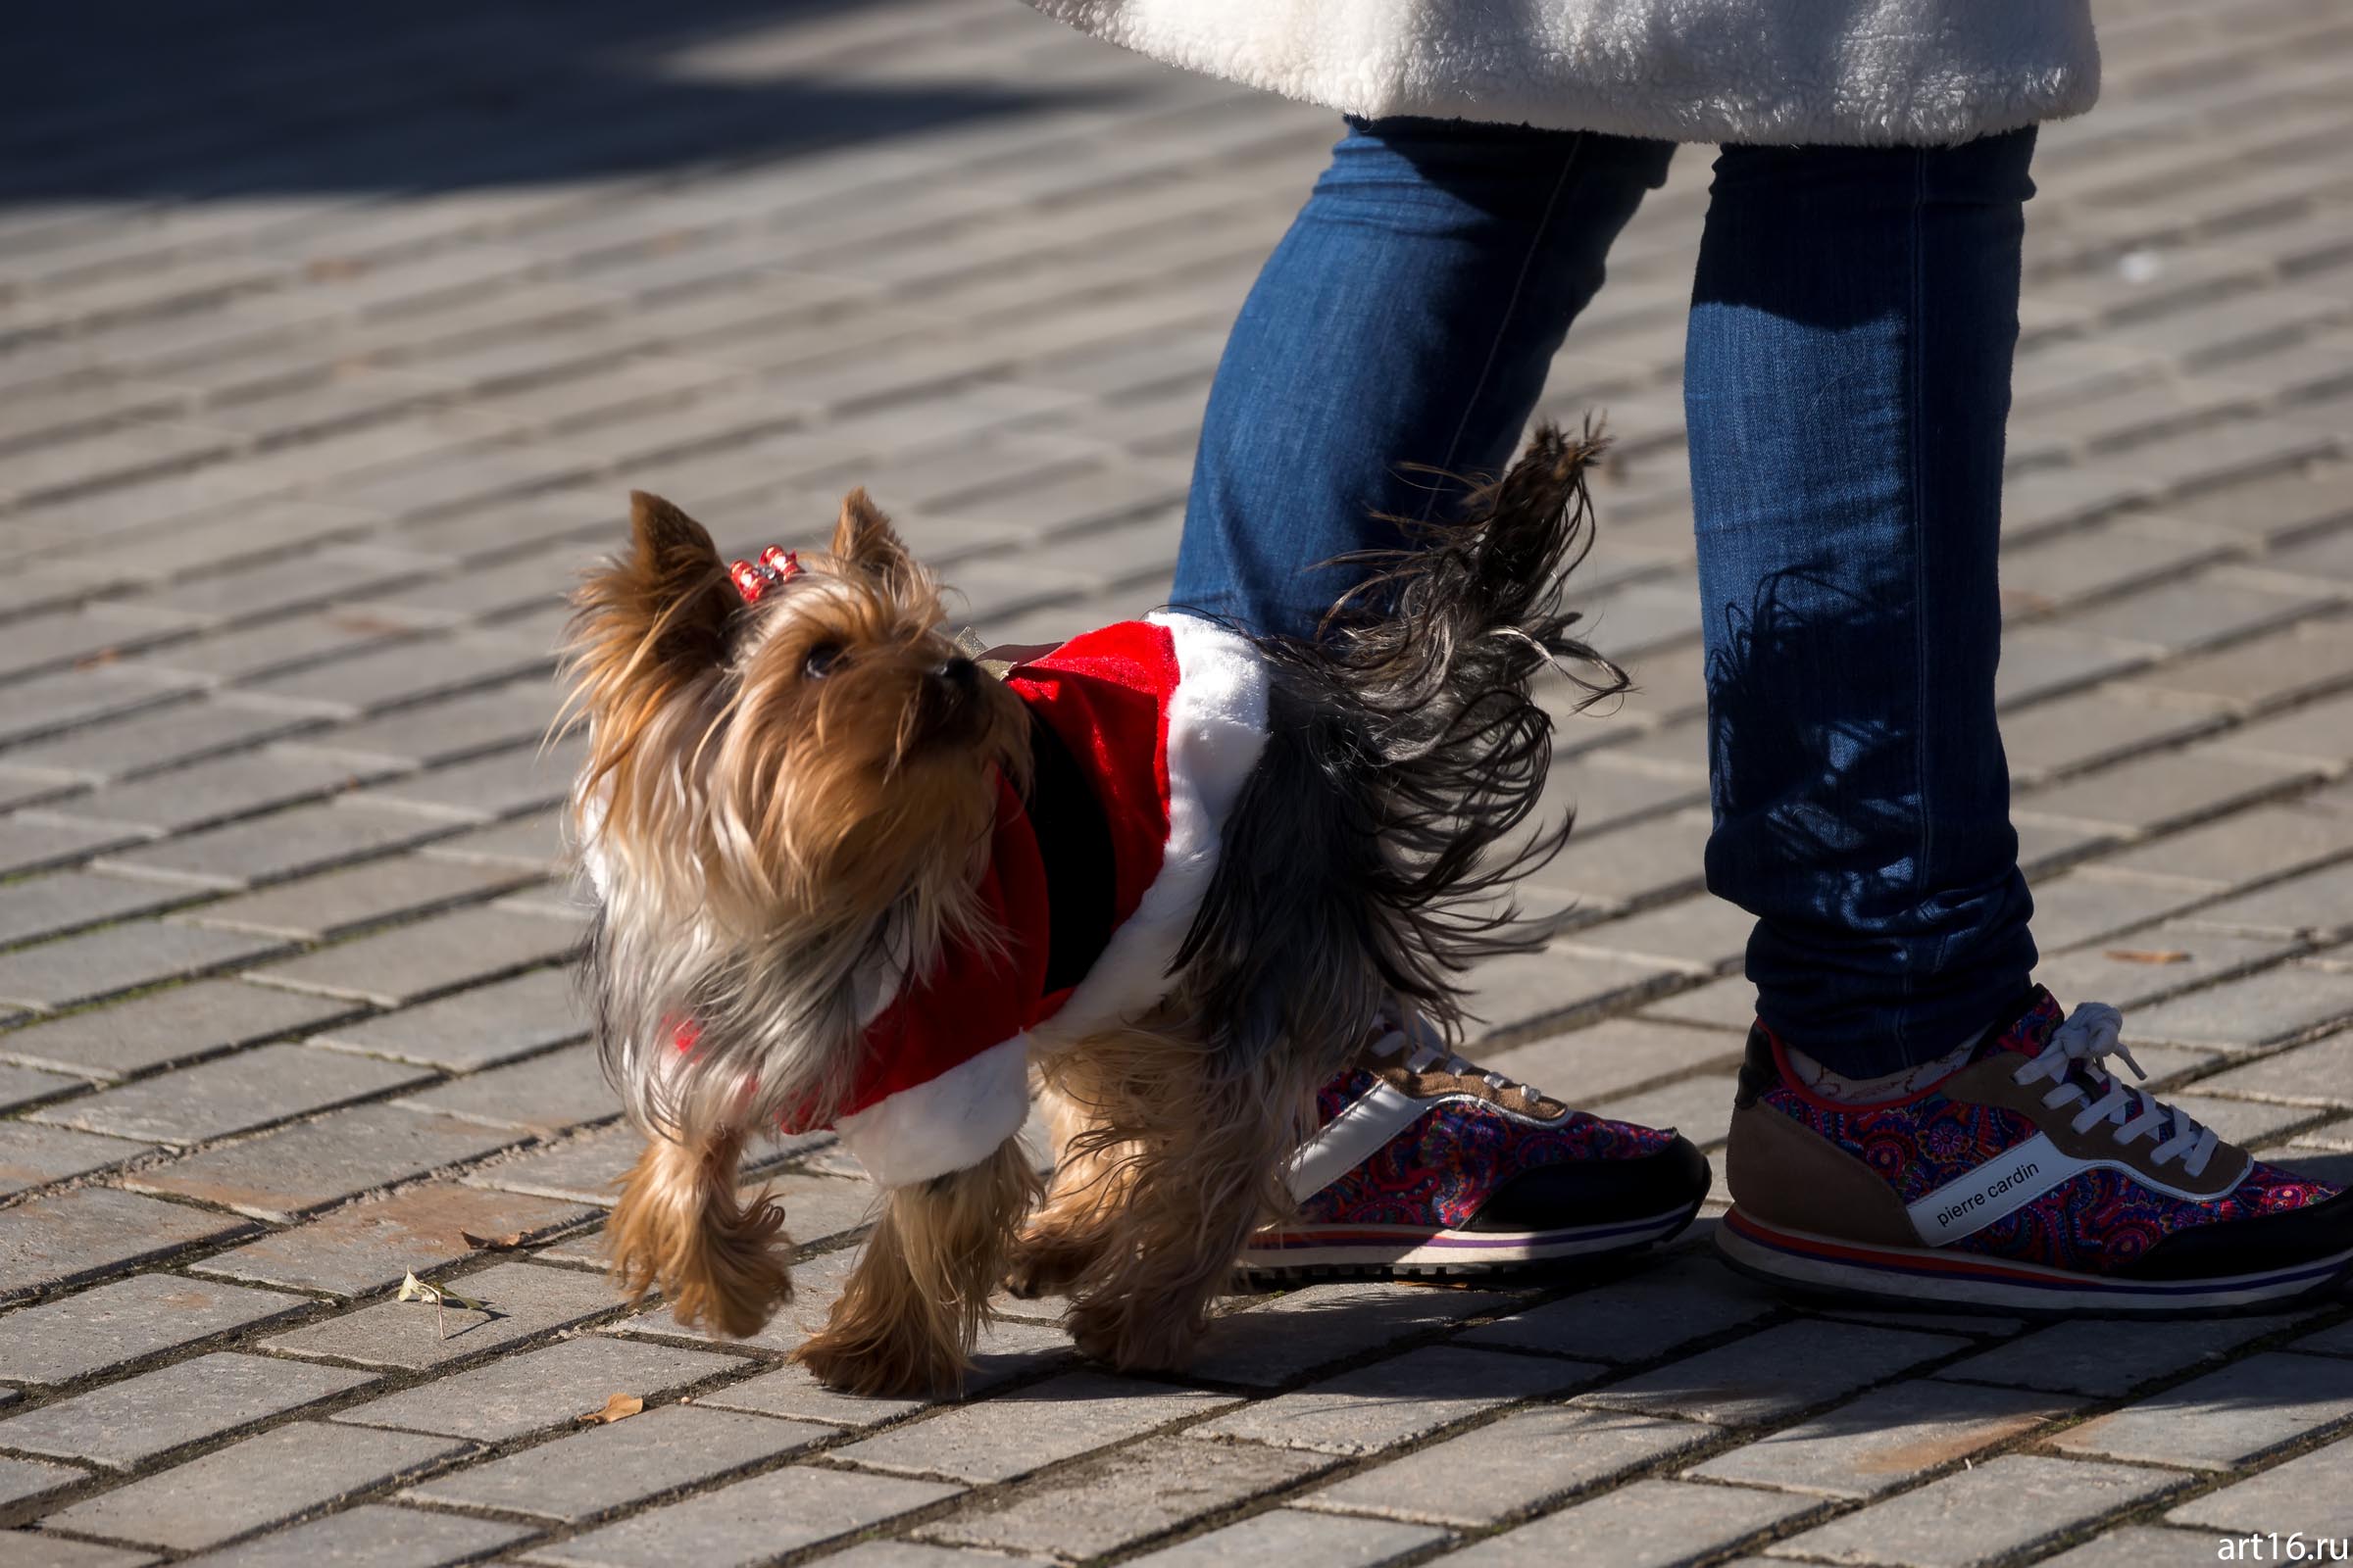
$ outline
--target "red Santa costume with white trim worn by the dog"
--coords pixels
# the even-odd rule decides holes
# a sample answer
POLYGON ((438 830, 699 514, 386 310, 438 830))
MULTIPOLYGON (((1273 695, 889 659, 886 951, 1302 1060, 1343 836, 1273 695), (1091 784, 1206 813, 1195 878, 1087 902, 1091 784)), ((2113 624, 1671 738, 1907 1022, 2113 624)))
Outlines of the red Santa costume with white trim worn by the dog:
POLYGON ((871 1009, 835 1126, 885 1187, 986 1159, 1028 1114, 1028 1056, 1167 992, 1219 839, 1266 745, 1266 665, 1181 614, 1122 621, 1016 665, 1028 799, 1000 785, 981 898, 1002 945, 958 945, 871 1009))

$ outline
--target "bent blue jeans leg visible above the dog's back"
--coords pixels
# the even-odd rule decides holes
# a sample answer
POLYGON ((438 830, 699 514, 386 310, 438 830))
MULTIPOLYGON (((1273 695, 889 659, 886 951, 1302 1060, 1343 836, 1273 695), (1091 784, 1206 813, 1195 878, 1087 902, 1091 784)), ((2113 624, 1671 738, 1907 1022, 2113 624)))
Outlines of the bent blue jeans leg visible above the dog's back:
POLYGON ((1351 122, 1259 273, 1209 390, 1174 604, 1311 635, 1318 562, 1497 470, 1602 256, 1673 146, 1461 120, 1351 122))

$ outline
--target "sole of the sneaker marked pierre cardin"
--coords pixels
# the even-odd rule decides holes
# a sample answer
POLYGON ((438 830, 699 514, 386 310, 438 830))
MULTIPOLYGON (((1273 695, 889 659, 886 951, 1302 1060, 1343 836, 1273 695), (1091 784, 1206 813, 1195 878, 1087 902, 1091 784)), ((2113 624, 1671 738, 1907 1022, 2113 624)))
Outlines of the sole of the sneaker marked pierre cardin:
POLYGON ((1800 1295, 2009 1316, 2214 1316, 2318 1295, 2353 1269, 2353 1248, 2228 1279, 2104 1279, 2038 1262, 1937 1248, 1861 1246, 1762 1225, 1734 1206, 1715 1251, 1741 1274, 1800 1295))

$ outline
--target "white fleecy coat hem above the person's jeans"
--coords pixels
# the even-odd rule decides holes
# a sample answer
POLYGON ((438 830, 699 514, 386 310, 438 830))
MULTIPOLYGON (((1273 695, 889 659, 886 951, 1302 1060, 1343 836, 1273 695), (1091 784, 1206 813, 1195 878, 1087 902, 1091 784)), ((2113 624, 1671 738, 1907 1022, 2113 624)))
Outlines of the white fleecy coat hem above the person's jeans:
POLYGON ((2099 96, 2089 0, 1031 0, 1169 66, 1351 115, 1944 146, 2099 96))

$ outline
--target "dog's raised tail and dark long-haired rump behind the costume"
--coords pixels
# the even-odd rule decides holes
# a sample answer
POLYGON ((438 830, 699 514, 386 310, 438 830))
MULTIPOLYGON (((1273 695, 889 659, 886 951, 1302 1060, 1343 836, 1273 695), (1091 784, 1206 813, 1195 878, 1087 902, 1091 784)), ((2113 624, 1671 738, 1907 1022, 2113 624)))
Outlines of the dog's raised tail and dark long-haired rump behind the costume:
POLYGON ((1228 823, 1214 912, 1186 950, 1226 950, 1226 1006, 1264 997, 1252 980, 1280 961, 1294 1037, 1362 1030, 1386 999, 1459 1037, 1464 971, 1541 943, 1511 884, 1560 853, 1569 816, 1534 820, 1553 759, 1534 686, 1558 670, 1574 708, 1626 689, 1562 607, 1605 449, 1593 423, 1574 437, 1541 425, 1501 480, 1471 489, 1464 522, 1407 524, 1409 548, 1344 557, 1369 576, 1315 644, 1264 644, 1287 670, 1278 703, 1297 710, 1271 715, 1257 799, 1228 823), (1334 964, 1348 952, 1377 973, 1334 964))

